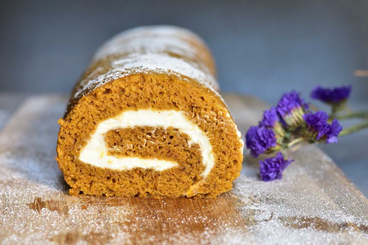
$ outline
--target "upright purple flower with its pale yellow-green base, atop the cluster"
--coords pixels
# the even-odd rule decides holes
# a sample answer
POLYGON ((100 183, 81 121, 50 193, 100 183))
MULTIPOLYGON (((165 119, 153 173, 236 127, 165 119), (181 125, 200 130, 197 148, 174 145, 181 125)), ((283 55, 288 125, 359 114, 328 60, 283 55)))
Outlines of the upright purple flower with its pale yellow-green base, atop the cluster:
POLYGON ((296 91, 285 93, 277 103, 276 111, 282 117, 282 123, 292 127, 302 124, 305 111, 309 108, 296 91))

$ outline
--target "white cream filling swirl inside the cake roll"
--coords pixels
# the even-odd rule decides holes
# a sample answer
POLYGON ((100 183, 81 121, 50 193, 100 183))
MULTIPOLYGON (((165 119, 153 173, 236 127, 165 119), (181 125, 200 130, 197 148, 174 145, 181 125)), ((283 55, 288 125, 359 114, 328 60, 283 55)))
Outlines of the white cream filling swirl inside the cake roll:
POLYGON ((202 176, 206 177, 215 164, 215 157, 212 152, 212 145, 209 138, 199 127, 188 120, 181 111, 154 111, 151 109, 141 109, 138 111, 124 111, 122 114, 106 119, 99 123, 96 131, 91 135, 91 139, 82 149, 79 160, 93 166, 109 168, 114 170, 130 170, 134 167, 144 169, 152 168, 157 171, 170 169, 178 166, 178 163, 156 158, 119 157, 109 155, 105 143, 105 133, 109 130, 134 127, 174 127, 190 136, 188 144, 199 144, 202 156, 202 163, 205 170, 202 176))

